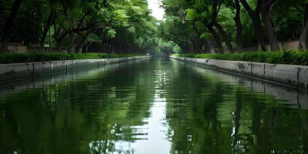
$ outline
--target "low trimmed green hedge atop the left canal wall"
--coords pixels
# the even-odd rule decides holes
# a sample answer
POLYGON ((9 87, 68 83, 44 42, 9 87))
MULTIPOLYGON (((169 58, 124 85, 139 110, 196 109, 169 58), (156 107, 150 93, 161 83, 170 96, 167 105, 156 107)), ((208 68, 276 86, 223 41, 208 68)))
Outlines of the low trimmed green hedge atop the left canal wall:
POLYGON ((66 60, 108 59, 140 55, 115 55, 106 53, 63 54, 63 53, 1 53, 0 63, 49 62, 66 60))

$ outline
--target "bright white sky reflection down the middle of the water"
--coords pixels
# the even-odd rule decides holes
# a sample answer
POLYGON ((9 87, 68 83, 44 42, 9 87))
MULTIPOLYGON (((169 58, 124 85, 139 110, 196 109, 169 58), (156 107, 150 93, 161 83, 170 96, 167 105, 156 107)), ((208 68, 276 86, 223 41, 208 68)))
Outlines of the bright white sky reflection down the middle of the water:
MULTIPOLYGON (((165 83, 166 73, 155 72, 154 81, 154 102, 151 106, 150 118, 143 119, 147 124, 142 126, 131 126, 138 130, 143 130, 146 135, 136 135, 139 140, 134 142, 117 142, 115 149, 120 151, 130 151, 134 154, 169 154, 171 143, 167 139, 168 123, 166 121, 165 109, 166 98, 164 97, 164 89, 162 85, 165 83)), ((115 154, 118 154, 116 152, 115 154)))

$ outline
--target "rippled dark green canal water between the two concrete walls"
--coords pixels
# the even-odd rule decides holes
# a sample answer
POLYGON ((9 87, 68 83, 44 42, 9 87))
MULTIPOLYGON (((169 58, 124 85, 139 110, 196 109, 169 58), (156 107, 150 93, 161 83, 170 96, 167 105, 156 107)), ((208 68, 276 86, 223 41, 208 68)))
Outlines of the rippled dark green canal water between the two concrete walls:
POLYGON ((308 94, 164 58, 0 84, 0 154, 307 154, 308 94))

